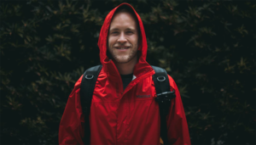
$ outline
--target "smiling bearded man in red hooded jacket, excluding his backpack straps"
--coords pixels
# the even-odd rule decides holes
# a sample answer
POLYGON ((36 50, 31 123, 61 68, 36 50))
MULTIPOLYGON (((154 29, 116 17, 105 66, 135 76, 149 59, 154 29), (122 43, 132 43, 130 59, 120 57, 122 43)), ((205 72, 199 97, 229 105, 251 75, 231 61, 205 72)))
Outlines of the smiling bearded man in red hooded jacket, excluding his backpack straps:
MULTIPOLYGON (((131 5, 122 3, 108 14, 98 46, 102 70, 90 106, 90 144, 160 145, 160 111, 154 100, 152 81, 154 70, 146 62, 148 46, 143 22, 131 5)), ((183 104, 175 82, 168 77, 176 93, 166 118, 168 142, 189 145, 183 104)), ((61 119, 61 145, 84 144, 81 80, 82 76, 68 98, 61 119)))

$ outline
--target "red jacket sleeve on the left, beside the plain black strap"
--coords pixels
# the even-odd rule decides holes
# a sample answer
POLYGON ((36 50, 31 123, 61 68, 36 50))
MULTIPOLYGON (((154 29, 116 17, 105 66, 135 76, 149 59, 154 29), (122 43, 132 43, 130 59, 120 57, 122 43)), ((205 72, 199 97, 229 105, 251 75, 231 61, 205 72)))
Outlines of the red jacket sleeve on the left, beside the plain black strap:
POLYGON ((76 82, 73 92, 69 95, 67 105, 61 118, 59 128, 60 145, 83 145, 84 114, 80 103, 80 84, 82 76, 76 82))

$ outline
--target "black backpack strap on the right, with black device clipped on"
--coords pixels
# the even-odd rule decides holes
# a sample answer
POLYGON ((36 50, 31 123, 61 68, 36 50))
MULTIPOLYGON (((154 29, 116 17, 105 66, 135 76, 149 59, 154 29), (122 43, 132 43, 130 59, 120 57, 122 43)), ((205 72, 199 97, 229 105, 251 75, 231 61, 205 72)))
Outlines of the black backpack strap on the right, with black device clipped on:
POLYGON ((166 70, 156 66, 152 66, 152 68, 155 72, 153 75, 154 87, 157 95, 155 101, 159 103, 160 109, 160 137, 164 144, 168 144, 166 115, 169 113, 172 98, 175 98, 175 92, 174 90, 171 91, 166 70))

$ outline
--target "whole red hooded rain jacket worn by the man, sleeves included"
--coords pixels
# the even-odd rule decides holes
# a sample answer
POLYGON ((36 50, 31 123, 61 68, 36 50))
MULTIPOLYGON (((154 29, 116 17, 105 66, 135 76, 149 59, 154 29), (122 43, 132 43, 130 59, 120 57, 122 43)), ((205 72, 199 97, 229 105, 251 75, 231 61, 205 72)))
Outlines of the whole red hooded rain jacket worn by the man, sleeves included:
MULTIPOLYGON (((123 4, 131 7, 128 3, 119 6, 123 4)), ((160 145, 160 111, 158 103, 154 100, 154 70, 146 62, 148 46, 143 21, 134 10, 142 37, 138 48, 141 55, 133 72, 136 78, 123 90, 119 71, 106 54, 108 28, 115 10, 116 8, 113 8, 106 17, 98 41, 102 71, 97 78, 90 107, 90 145, 160 145), (147 95, 147 98, 138 97, 143 95, 147 95)), ((69 95, 61 119, 61 145, 84 144, 84 114, 79 93, 81 80, 82 76, 69 95)), ((171 76, 169 80, 170 86, 175 89, 176 98, 172 99, 170 113, 167 115, 168 140, 173 145, 189 145, 189 130, 183 103, 171 76)))

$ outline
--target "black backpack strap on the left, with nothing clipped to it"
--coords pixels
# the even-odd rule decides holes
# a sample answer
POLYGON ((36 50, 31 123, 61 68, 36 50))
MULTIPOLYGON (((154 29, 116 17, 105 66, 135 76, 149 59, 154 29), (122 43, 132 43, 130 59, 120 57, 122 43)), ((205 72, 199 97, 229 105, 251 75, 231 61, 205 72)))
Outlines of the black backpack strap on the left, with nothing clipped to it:
POLYGON ((80 86, 80 103, 84 114, 84 144, 90 144, 90 103, 102 65, 84 71, 80 86))

